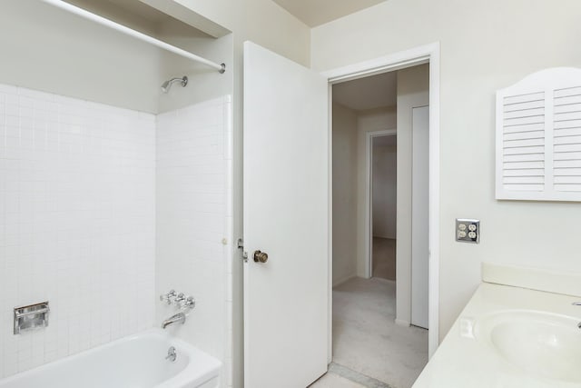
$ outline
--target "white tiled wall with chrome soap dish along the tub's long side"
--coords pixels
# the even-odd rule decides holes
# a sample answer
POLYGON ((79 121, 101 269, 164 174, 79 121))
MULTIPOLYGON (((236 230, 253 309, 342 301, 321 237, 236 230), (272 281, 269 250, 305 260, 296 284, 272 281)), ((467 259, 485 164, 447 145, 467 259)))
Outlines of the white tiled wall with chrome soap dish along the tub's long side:
POLYGON ((153 325, 154 174, 152 114, 0 85, 0 378, 153 325))

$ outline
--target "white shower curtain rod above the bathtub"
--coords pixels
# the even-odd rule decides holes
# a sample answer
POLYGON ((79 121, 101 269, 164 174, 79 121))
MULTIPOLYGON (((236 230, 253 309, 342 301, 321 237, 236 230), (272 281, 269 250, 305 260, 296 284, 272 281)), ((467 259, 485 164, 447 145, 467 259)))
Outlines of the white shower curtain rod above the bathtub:
POLYGON ((135 31, 129 27, 115 23, 112 20, 105 19, 103 16, 94 15, 93 13, 86 11, 83 8, 80 8, 78 6, 65 3, 62 0, 41 0, 41 1, 43 1, 46 4, 54 5, 58 8, 61 8, 64 11, 70 12, 71 14, 79 15, 79 16, 84 17, 85 19, 92 20, 95 23, 98 23, 100 25, 105 25, 107 27, 113 28, 113 30, 117 30, 125 35, 133 36, 134 38, 142 40, 143 42, 149 43, 151 45, 155 45, 157 47, 160 47, 160 48, 162 48, 166 51, 169 51, 173 54, 181 55, 184 58, 188 58, 192 61, 199 62, 203 65, 210 66, 210 67, 218 70, 221 74, 226 71, 226 65, 224 65, 224 64, 217 64, 217 63, 212 62, 206 58, 202 58, 202 56, 200 56, 200 55, 195 55, 195 54, 192 54, 188 51, 182 50, 181 48, 176 47, 174 45, 169 45, 165 42, 162 42, 159 39, 153 38, 152 36, 145 35, 143 33, 140 33, 139 31, 135 31))

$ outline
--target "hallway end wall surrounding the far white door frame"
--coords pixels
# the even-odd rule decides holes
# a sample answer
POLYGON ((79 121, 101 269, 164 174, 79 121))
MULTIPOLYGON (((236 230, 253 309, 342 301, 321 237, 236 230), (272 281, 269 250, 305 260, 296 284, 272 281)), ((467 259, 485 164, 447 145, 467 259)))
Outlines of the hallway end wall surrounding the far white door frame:
POLYGON ((377 108, 359 111, 357 117, 357 275, 367 277, 366 246, 369 244, 365 236, 365 223, 368 209, 365 205, 366 177, 368 164, 366 159, 366 142, 369 132, 385 131, 396 128, 396 108, 377 108))

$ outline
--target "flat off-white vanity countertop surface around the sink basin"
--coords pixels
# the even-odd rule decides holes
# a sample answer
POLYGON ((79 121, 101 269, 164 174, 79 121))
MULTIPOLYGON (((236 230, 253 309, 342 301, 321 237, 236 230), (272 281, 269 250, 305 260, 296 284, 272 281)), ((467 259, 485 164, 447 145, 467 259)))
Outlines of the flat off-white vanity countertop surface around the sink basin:
MULTIPOLYGON (((581 301, 581 297, 500 284, 480 284, 413 388, 581 387, 581 383, 531 375, 509 363, 491 344, 475 338, 473 334, 478 318, 510 310, 563 314, 578 318, 581 322, 581 306, 571 304, 576 301, 581 301)), ((581 330, 579 338, 581 341, 581 330)), ((581 349, 576 356, 575 362, 581 369, 581 349)))

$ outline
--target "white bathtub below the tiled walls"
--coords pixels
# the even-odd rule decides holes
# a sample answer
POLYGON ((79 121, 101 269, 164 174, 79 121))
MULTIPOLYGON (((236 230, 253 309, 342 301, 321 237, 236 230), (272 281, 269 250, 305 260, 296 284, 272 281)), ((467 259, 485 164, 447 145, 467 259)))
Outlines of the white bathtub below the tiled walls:
POLYGON ((0 388, 216 388, 222 363, 152 329, 0 380, 0 388), (175 347, 174 363, 165 359, 175 347))

